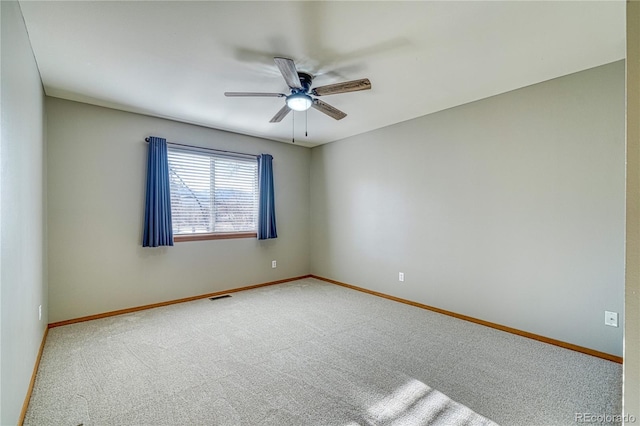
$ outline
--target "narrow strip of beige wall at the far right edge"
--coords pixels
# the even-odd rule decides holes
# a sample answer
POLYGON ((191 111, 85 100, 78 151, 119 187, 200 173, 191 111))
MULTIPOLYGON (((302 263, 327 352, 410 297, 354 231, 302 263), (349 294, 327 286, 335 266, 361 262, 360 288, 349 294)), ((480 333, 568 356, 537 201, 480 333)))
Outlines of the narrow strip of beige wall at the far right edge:
POLYGON ((626 254, 623 411, 637 422, 640 419, 640 3, 635 1, 627 3, 626 254))

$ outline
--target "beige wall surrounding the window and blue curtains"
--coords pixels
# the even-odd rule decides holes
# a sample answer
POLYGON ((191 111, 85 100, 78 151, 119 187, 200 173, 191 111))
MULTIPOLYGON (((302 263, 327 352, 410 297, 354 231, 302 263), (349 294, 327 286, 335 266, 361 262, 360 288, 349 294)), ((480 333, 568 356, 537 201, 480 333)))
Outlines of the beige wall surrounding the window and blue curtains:
POLYGON ((309 272, 309 149, 55 98, 46 107, 50 322, 309 272), (272 154, 278 238, 142 248, 150 135, 272 154))

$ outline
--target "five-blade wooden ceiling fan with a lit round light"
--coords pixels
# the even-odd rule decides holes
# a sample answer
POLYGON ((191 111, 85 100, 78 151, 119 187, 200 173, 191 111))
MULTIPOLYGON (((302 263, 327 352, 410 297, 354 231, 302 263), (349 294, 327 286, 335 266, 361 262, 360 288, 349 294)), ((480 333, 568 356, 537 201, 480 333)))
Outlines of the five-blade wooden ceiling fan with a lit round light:
POLYGON ((313 98, 313 96, 326 96, 336 95, 338 93, 356 92, 358 90, 371 89, 371 82, 367 78, 360 80, 346 81, 344 83, 328 84, 326 86, 320 86, 311 88, 311 82, 313 76, 306 72, 301 72, 296 69, 296 64, 292 59, 288 58, 273 58, 284 77, 284 81, 291 89, 291 93, 286 95, 284 93, 262 93, 262 92, 224 92, 225 96, 229 97, 273 97, 273 98, 285 98, 285 105, 273 116, 270 120, 271 123, 278 123, 282 121, 284 117, 291 110, 294 111, 306 111, 313 107, 320 112, 327 114, 329 117, 336 120, 342 120, 347 116, 339 109, 332 107, 326 102, 322 102, 320 99, 313 98))

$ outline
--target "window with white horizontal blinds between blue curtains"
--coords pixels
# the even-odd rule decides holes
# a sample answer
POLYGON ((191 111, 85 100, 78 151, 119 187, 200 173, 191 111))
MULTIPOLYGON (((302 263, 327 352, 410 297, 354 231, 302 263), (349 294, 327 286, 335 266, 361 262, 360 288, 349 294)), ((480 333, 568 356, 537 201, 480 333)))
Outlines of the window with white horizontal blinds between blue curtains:
POLYGON ((176 241, 255 237, 255 157, 168 147, 171 216, 176 241))

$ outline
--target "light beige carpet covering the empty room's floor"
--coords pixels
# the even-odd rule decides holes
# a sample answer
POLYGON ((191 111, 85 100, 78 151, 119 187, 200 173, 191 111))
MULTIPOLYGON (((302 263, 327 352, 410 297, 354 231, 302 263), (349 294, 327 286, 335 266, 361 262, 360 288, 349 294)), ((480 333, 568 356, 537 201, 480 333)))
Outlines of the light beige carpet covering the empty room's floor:
POLYGON ((619 414, 621 375, 304 279, 51 329, 25 424, 570 425, 619 414))

